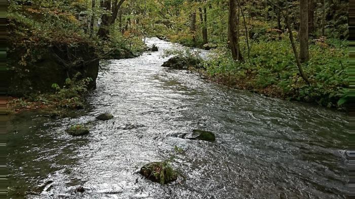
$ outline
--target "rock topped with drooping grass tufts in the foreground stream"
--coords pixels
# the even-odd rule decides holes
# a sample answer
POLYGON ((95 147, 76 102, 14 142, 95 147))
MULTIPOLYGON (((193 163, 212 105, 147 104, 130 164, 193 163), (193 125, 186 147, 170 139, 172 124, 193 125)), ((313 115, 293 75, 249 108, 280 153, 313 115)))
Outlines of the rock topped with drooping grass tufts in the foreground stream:
POLYGON ((140 174, 160 184, 167 184, 177 179, 176 172, 167 161, 149 163, 140 169, 140 174))

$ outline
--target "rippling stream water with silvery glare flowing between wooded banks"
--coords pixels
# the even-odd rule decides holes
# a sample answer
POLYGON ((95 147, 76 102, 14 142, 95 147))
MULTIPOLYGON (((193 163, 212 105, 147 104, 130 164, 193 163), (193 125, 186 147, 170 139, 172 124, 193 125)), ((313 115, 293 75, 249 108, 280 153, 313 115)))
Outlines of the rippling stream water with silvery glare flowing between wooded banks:
POLYGON ((9 198, 346 197, 344 113, 163 68, 163 50, 173 44, 147 44, 159 52, 101 63, 90 107, 79 116, 13 116, 9 198), (95 121, 102 112, 115 117, 95 121), (90 124, 90 134, 64 132, 77 123, 90 124), (193 129, 214 132, 216 142, 176 137, 193 129), (175 182, 162 186, 137 173, 168 158, 180 173, 175 182))

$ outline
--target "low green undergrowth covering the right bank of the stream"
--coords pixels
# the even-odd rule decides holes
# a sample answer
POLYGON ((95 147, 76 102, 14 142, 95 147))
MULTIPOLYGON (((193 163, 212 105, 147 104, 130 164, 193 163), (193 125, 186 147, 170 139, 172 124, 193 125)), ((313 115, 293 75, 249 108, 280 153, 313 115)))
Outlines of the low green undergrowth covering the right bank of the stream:
POLYGON ((280 41, 252 43, 251 56, 244 63, 234 62, 229 49, 220 47, 204 66, 211 77, 232 77, 235 81, 231 84, 248 85, 261 93, 290 100, 339 107, 343 105, 343 89, 348 85, 346 45, 345 41, 324 38, 311 42, 310 60, 303 66, 311 85, 300 77, 285 36, 280 41))

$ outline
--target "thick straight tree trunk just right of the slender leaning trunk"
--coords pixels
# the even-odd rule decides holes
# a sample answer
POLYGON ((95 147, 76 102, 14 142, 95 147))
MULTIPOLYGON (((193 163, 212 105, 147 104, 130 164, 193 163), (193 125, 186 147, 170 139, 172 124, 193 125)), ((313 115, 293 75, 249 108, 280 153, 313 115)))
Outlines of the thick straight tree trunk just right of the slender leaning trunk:
POLYGON ((308 61, 308 1, 300 0, 300 61, 308 61))

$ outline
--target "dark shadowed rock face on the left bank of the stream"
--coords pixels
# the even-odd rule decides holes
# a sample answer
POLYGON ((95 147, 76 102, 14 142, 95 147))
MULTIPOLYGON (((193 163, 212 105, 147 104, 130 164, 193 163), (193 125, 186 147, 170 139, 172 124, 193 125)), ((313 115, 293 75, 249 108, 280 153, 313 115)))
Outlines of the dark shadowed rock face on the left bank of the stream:
POLYGON ((53 92, 52 84, 64 86, 66 78, 72 78, 78 72, 79 78, 92 78, 88 89, 96 88, 99 59, 95 50, 87 44, 76 47, 52 46, 41 50, 41 56, 34 63, 19 65, 18 55, 21 49, 8 54, 10 82, 8 93, 21 97, 31 93, 53 92))

